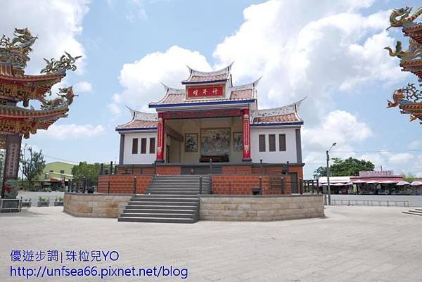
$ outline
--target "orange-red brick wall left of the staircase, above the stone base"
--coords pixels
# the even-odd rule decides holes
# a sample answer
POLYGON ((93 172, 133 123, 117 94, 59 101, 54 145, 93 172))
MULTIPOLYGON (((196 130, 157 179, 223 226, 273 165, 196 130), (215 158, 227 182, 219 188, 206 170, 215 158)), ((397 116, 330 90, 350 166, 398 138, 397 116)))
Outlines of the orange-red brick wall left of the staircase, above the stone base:
POLYGON ((136 177, 136 193, 145 193, 146 188, 153 179, 152 175, 100 175, 98 177, 98 193, 108 193, 110 182, 110 194, 132 194, 134 191, 134 177, 136 177))

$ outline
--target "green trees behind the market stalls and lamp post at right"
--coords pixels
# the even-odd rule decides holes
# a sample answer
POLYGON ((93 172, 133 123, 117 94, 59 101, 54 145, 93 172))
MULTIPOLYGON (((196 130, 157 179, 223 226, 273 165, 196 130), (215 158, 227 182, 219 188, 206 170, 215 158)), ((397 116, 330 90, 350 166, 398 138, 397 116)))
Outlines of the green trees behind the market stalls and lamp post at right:
MULTIPOLYGON (((330 165, 331 177, 358 176, 361 171, 373 170, 375 167, 369 160, 358 160, 355 158, 333 158, 333 165, 330 165)), ((318 167, 314 170, 314 177, 326 177, 326 167, 318 167)))

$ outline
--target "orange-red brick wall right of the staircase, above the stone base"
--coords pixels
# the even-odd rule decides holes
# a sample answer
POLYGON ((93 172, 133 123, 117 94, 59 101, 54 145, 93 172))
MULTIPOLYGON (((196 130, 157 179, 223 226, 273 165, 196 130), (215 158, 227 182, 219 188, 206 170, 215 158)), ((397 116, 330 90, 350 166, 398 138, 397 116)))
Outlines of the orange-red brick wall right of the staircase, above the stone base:
MULTIPOLYGON (((262 175, 262 194, 290 194, 290 176, 271 177, 262 175), (282 188, 283 183, 283 188, 282 188)), ((260 187, 260 175, 257 174, 215 174, 212 175, 212 192, 217 195, 252 195, 252 188, 260 187)))

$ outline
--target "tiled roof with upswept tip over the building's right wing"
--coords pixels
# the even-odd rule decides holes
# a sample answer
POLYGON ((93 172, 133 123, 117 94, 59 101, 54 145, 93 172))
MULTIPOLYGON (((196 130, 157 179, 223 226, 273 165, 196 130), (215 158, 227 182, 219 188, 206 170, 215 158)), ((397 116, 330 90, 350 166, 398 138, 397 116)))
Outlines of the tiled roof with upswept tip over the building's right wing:
POLYGON ((251 124, 283 124, 291 122, 303 122, 298 111, 302 99, 296 103, 286 105, 280 108, 271 108, 263 110, 250 111, 251 124))

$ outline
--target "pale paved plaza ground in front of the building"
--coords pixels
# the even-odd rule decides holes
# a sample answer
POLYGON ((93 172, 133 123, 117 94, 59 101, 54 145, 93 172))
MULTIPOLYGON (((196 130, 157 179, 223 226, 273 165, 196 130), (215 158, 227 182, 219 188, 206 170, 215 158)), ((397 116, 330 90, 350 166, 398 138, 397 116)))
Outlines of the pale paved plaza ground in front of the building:
POLYGON ((422 217, 399 207, 332 206, 326 218, 145 224, 72 217, 63 207, 0 214, 0 281, 422 281, 422 217), (11 250, 117 250, 117 262, 67 267, 187 267, 188 278, 10 277, 11 250))

